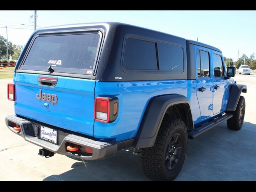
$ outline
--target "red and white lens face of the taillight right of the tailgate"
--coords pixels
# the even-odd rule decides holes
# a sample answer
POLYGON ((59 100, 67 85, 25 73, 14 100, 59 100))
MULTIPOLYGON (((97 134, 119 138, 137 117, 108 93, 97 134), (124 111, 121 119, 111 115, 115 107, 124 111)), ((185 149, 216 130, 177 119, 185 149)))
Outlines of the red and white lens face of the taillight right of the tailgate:
POLYGON ((94 119, 100 122, 109 122, 110 100, 107 98, 95 98, 94 119))

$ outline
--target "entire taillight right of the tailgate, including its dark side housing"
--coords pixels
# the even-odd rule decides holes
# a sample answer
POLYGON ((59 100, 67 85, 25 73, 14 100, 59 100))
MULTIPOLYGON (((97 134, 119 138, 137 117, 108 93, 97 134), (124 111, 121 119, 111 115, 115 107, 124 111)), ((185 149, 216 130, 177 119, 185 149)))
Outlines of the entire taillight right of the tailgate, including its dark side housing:
POLYGON ((94 104, 94 119, 99 122, 110 123, 118 116, 118 98, 97 97, 94 104))

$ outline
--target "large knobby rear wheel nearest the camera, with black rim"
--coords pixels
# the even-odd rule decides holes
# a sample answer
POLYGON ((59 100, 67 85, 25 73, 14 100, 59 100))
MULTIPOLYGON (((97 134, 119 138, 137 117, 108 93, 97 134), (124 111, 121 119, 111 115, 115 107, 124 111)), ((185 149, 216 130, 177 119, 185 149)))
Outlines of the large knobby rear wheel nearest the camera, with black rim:
POLYGON ((188 133, 184 122, 165 116, 153 147, 142 148, 141 163, 146 176, 171 181, 179 174, 187 151, 188 133))

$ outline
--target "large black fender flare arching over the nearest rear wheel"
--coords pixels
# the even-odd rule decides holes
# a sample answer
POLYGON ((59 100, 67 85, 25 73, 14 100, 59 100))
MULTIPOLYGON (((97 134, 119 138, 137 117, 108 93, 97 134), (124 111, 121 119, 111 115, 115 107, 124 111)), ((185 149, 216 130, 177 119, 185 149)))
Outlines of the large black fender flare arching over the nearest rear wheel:
POLYGON ((191 107, 188 98, 180 94, 169 94, 152 98, 148 103, 136 140, 134 142, 135 148, 146 148, 154 146, 156 136, 161 126, 162 120, 166 110, 176 104, 188 104, 190 114, 190 124, 193 128, 193 120, 191 114, 191 107))

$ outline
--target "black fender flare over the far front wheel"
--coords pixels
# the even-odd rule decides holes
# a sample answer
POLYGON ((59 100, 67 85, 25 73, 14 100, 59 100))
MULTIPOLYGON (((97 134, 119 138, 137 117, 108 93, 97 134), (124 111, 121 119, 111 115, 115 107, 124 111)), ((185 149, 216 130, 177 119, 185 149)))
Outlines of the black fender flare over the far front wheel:
POLYGON ((227 112, 229 111, 235 111, 236 106, 238 104, 241 92, 246 93, 247 92, 247 86, 243 84, 232 84, 229 89, 229 99, 228 99, 228 106, 227 106, 227 112))

